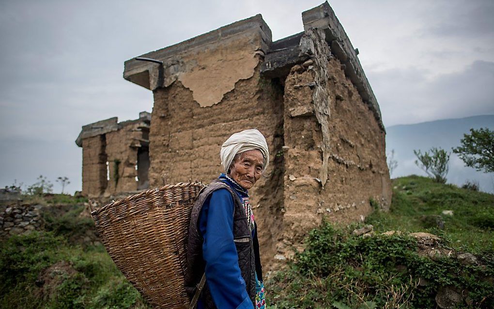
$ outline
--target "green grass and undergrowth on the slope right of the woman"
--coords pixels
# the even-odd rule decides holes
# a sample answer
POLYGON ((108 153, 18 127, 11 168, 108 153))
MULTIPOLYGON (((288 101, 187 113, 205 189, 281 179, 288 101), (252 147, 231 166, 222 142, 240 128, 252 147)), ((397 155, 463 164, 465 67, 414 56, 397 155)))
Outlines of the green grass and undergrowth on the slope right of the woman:
POLYGON ((389 212, 371 200, 365 223, 373 236, 353 235, 356 224, 311 231, 305 251, 266 283, 268 308, 436 308, 440 287, 460 291, 456 308, 494 308, 494 195, 418 176, 393 179, 393 187, 389 212), (381 234, 389 230, 404 233, 381 234), (407 236, 418 231, 439 235, 436 248, 475 253, 479 264, 420 255, 407 236))

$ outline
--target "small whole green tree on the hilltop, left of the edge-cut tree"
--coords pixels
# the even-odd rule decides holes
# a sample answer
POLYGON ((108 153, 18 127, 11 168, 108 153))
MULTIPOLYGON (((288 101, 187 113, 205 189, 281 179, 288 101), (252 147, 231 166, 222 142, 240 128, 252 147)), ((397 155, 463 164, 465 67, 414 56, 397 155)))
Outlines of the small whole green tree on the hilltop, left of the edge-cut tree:
POLYGON ((451 152, 448 153, 442 148, 432 147, 429 151, 423 154, 420 150, 413 150, 417 157, 415 164, 424 170, 425 173, 436 182, 446 183, 446 175, 448 175, 449 161, 451 152))

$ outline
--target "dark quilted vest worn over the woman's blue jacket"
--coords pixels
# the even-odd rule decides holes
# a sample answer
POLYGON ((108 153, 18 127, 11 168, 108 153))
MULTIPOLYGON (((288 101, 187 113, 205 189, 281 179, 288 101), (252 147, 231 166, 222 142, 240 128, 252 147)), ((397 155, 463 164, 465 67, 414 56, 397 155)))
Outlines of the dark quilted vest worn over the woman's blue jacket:
MULTIPOLYGON (((187 246, 187 271, 185 273, 185 289, 190 297, 194 296, 196 286, 204 274, 205 262, 203 260, 203 242, 204 238, 199 229, 199 216, 201 209, 207 197, 218 189, 227 189, 233 197, 235 204, 233 213, 233 238, 237 255, 239 257, 239 267, 242 277, 246 283, 246 289, 252 304, 255 304, 255 270, 258 269, 258 279, 262 280, 261 265, 259 260, 259 243, 256 239, 252 240, 252 234, 247 224, 247 216, 244 206, 239 197, 227 184, 220 180, 214 180, 199 195, 192 208, 191 220, 189 225, 189 239, 187 246), (257 262, 257 263, 256 263, 257 262), (257 266, 257 267, 256 267, 257 266)), ((256 233, 257 235, 257 233, 256 233)), ((211 293, 207 286, 201 293, 206 309, 216 309, 211 293)))

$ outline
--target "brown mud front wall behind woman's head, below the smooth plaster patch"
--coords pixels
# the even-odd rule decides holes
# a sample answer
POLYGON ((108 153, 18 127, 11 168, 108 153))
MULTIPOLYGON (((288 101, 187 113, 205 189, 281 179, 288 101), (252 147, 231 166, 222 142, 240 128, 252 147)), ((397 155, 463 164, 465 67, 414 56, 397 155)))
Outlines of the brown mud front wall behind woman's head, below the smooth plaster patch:
MULTIPOLYGON (((256 128, 266 136, 271 162, 250 194, 255 215, 263 230, 263 247, 276 234, 283 192, 283 164, 276 154, 283 145, 283 94, 279 85, 254 76, 236 83, 220 103, 201 107, 191 91, 175 82, 154 91, 155 104, 150 129, 150 186, 203 178, 205 182, 223 172, 219 151, 234 132, 256 128), (269 112, 267 112, 269 111, 269 112), (277 200, 277 201, 276 201, 277 200)), ((269 251, 269 250, 267 250, 269 251)), ((274 255, 274 249, 270 254, 274 255)), ((266 254, 267 256, 267 254, 266 254)))

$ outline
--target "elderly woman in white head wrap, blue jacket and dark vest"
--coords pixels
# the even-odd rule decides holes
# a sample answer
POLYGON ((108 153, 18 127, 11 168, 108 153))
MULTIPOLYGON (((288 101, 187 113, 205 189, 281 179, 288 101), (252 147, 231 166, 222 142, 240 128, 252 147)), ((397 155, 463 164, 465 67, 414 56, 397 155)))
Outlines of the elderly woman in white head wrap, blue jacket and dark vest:
POLYGON ((245 130, 223 143, 220 157, 225 173, 192 209, 186 289, 191 296, 200 293, 198 309, 264 308, 257 225, 247 190, 268 166, 268 145, 261 132, 245 130))

